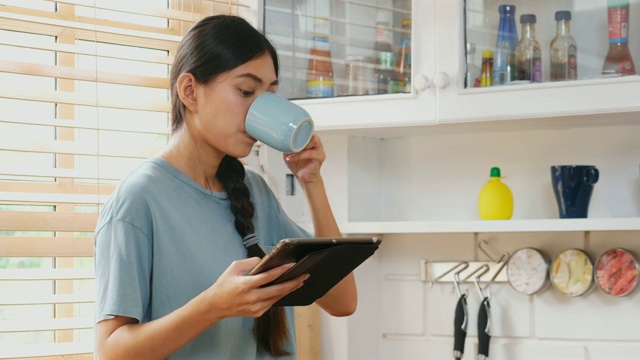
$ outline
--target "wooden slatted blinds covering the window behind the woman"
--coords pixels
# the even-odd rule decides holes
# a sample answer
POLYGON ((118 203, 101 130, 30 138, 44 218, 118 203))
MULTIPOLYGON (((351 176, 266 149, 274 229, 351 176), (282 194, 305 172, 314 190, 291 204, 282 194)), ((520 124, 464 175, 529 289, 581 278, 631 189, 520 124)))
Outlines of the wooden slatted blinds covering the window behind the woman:
POLYGON ((168 74, 211 0, 0 0, 0 359, 93 358, 93 231, 166 142, 168 74))

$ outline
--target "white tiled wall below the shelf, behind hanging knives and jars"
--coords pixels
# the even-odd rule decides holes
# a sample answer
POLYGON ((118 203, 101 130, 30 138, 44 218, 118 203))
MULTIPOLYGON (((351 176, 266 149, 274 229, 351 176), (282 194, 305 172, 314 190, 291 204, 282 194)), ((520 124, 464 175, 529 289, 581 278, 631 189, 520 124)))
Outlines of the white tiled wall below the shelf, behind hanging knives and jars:
MULTIPOLYGON (((347 352, 326 358, 450 359, 458 295, 452 283, 429 287, 420 281, 420 260, 485 261, 477 248, 481 238, 496 253, 525 246, 550 258, 571 247, 585 249, 594 260, 617 246, 640 253, 640 231, 386 235, 375 258, 356 272, 361 301, 346 320, 347 352)), ((480 300, 472 283, 462 289, 469 292, 465 358, 475 359, 480 300)), ((615 298, 594 286, 586 295, 568 297, 548 286, 527 296, 508 283, 489 291, 491 359, 640 359, 639 291, 615 298)))

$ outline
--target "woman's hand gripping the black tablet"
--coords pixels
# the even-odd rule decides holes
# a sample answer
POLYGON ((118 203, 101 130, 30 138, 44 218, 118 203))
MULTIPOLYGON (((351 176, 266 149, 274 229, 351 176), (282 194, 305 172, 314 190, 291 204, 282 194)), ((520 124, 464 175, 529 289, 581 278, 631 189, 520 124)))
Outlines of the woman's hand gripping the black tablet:
POLYGON ((281 284, 262 287, 277 279, 293 264, 281 265, 256 275, 244 275, 259 261, 254 257, 232 262, 205 291, 212 314, 218 314, 219 320, 235 316, 259 317, 283 296, 299 289, 309 277, 304 274, 281 284))

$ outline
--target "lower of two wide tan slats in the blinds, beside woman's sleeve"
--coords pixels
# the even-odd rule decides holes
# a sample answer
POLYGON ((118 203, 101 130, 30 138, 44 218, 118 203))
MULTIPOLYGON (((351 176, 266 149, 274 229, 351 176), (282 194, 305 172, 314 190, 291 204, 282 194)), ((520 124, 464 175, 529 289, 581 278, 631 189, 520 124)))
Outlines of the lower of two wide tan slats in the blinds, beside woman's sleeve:
POLYGON ((0 237, 0 257, 90 257, 93 238, 87 237, 0 237))

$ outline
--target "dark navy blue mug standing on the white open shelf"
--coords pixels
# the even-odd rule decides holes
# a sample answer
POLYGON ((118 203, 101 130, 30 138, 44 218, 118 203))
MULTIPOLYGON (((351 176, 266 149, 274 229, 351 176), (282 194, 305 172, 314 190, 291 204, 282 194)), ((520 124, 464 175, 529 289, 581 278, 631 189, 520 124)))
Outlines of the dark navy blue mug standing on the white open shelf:
POLYGON ((561 219, 586 218, 600 172, 592 165, 551 166, 553 193, 561 219))

